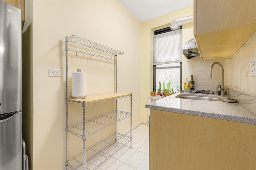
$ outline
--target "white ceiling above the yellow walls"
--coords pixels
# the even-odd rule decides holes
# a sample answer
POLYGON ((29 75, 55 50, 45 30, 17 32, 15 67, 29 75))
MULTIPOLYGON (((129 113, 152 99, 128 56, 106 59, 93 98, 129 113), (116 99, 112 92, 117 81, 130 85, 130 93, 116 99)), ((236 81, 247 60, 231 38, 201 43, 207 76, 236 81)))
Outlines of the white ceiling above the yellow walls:
POLYGON ((193 6, 193 0, 118 0, 141 23, 193 6))

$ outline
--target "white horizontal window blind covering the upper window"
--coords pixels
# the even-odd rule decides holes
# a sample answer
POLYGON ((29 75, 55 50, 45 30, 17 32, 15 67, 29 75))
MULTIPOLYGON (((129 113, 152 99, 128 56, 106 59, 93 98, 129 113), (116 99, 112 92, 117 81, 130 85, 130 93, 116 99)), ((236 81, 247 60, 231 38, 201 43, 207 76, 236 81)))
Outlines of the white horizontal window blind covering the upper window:
POLYGON ((153 64, 182 62, 182 29, 154 35, 153 64))

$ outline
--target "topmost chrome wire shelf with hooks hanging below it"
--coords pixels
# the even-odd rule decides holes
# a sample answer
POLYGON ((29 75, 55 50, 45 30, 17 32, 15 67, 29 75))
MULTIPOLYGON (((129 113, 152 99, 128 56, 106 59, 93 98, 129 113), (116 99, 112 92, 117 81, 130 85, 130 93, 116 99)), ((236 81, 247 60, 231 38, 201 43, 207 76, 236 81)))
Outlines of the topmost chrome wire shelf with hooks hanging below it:
POLYGON ((76 35, 71 35, 70 37, 67 37, 66 40, 68 40, 71 43, 81 45, 83 47, 88 47, 90 49, 95 49, 95 50, 102 51, 104 53, 108 53, 108 54, 112 54, 112 55, 123 55, 124 54, 122 51, 112 49, 112 48, 107 47, 105 45, 95 43, 93 41, 78 37, 76 35))

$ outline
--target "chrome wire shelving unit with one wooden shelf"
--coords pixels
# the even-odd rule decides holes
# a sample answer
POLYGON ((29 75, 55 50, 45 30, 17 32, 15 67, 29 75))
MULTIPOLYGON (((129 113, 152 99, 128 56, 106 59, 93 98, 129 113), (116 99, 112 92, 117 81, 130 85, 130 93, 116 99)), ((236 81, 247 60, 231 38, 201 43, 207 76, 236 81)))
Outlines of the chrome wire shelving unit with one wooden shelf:
POLYGON ((116 49, 95 43, 93 41, 72 35, 66 36, 66 169, 83 169, 94 170, 102 165, 108 158, 113 156, 118 150, 126 146, 130 142, 132 148, 132 94, 131 93, 118 93, 117 92, 117 55, 123 55, 124 53, 116 49), (70 47, 68 45, 70 44, 70 47), (76 48, 73 48, 76 47, 76 48), (97 53, 89 53, 86 48, 93 49, 97 53), (68 96, 68 52, 74 52, 84 55, 90 55, 90 57, 99 57, 106 59, 107 61, 114 61, 114 73, 115 73, 115 92, 109 94, 100 94, 94 96, 87 96, 85 99, 72 99, 68 96), (109 57, 113 55, 113 57, 109 57), (108 56, 108 57, 106 57, 108 56), (123 98, 130 98, 130 112, 117 110, 117 100, 123 98), (100 104, 102 102, 115 101, 115 110, 110 113, 106 113, 95 117, 90 120, 85 119, 86 106, 100 104), (83 120, 76 125, 69 126, 69 109, 68 104, 75 104, 82 106, 83 120), (117 122, 122 121, 130 117, 130 136, 126 136, 117 132, 117 122), (116 125, 116 132, 106 139, 99 141, 92 147, 86 149, 86 138, 90 137, 103 129, 116 125), (80 137, 83 142, 83 150, 76 156, 69 158, 69 133, 80 137), (108 147, 111 149, 106 149, 108 147))

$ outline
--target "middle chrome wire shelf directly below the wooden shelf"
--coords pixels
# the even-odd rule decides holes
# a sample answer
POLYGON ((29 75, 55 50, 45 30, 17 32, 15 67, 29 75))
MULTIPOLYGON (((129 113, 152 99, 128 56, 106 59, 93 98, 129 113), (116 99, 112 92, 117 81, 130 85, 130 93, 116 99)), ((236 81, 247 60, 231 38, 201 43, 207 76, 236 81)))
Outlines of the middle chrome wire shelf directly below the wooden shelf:
MULTIPOLYGON (((98 133, 99 131, 102 131, 103 129, 110 127, 111 125, 114 125, 116 122, 122 121, 127 117, 130 117, 130 115, 131 113, 128 113, 128 112, 117 111, 117 117, 116 117, 116 111, 112 111, 105 115, 100 115, 98 117, 90 119, 85 122, 86 123, 85 136, 89 137, 95 133, 98 133)), ((68 132, 82 138, 83 122, 69 127, 68 132)))

